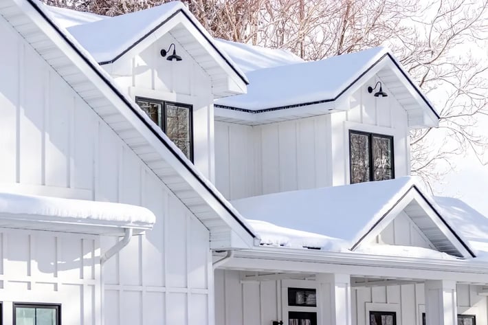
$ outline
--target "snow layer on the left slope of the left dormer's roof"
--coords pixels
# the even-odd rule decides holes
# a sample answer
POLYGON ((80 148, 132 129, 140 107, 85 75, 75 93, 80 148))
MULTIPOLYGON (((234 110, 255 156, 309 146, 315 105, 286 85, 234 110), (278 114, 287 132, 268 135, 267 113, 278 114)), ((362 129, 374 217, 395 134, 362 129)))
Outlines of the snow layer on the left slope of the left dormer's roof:
POLYGON ((68 32, 87 49, 98 62, 113 60, 137 43, 185 6, 179 1, 157 5, 154 8, 113 16, 93 23, 76 25, 68 32))

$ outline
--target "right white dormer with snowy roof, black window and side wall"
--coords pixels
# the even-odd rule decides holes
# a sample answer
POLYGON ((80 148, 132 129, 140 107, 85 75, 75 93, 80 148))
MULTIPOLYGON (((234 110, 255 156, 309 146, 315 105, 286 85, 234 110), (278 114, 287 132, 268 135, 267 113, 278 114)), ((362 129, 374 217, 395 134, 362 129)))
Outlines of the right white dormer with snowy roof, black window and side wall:
POLYGON ((439 121, 381 47, 247 76, 246 94, 214 103, 217 188, 230 199, 408 176, 410 130, 439 121))

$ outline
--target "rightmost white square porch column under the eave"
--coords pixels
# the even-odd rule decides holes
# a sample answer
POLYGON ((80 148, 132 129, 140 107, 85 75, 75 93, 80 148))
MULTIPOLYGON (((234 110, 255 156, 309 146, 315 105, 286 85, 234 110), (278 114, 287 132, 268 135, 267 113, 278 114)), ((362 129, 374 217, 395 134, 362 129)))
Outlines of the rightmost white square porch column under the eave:
POLYGON ((456 281, 425 281, 425 320, 427 325, 457 325, 456 281))

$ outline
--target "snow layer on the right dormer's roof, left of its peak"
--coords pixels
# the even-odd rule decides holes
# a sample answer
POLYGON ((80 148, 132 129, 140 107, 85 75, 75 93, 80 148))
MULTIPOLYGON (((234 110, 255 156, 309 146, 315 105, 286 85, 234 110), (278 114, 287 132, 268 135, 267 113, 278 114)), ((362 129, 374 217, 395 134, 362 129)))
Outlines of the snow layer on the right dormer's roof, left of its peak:
POLYGON ((269 67, 247 73, 247 94, 214 103, 251 111, 333 100, 388 50, 374 47, 324 60, 269 67))

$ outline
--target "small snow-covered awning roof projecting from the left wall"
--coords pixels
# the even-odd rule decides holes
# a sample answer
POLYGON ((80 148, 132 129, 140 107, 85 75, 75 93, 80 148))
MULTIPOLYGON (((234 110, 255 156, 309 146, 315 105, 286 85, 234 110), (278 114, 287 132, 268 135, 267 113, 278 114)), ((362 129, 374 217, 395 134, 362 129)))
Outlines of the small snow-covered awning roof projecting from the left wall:
POLYGON ((0 192, 0 227, 119 236, 152 229, 155 221, 136 205, 0 192))

